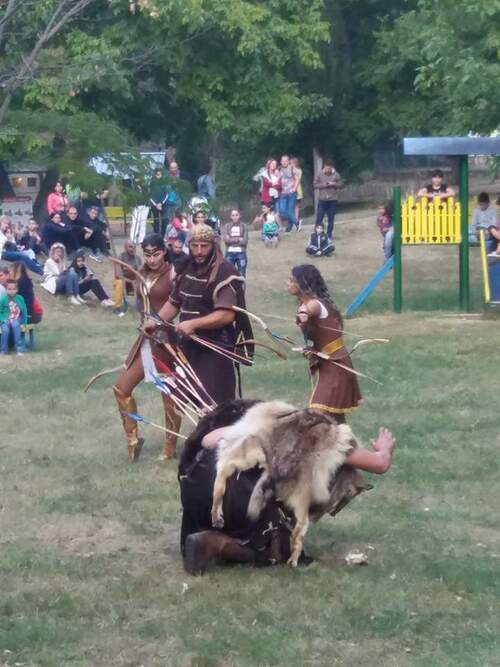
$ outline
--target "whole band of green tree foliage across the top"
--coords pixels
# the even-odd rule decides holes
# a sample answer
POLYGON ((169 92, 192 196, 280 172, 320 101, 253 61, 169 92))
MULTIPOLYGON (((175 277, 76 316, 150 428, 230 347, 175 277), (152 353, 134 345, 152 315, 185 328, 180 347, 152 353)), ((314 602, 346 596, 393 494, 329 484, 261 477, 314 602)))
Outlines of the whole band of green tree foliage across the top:
POLYGON ((499 0, 0 0, 0 151, 57 169, 175 145, 223 198, 284 150, 356 173, 404 134, 497 129, 499 19, 499 0))

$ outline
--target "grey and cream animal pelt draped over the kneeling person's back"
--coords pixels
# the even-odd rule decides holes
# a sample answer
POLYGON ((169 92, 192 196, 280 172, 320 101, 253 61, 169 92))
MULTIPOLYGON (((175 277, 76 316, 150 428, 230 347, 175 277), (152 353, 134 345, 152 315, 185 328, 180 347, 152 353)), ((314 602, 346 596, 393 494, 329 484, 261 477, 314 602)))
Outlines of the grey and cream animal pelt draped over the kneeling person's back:
MULTIPOLYGON (((261 466, 263 473, 250 497, 248 515, 257 520, 271 498, 293 512, 296 521, 288 563, 295 567, 310 518, 339 511, 339 496, 332 497, 334 478, 356 446, 349 426, 321 412, 297 410, 282 401, 253 405, 218 444, 212 524, 224 525, 222 501, 228 478, 235 471, 261 466)), ((358 485, 357 492, 364 488, 358 485)))

